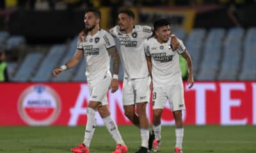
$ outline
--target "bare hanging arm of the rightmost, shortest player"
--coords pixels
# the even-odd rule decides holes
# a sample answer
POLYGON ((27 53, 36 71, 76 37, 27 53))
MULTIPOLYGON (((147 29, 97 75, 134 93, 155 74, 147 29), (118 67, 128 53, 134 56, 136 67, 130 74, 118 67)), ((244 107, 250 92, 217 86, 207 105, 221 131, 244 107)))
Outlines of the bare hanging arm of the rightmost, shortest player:
POLYGON ((184 59, 186 59, 186 63, 188 66, 188 84, 189 84, 188 88, 190 89, 194 85, 192 59, 189 55, 188 50, 185 50, 185 52, 183 52, 181 55, 182 55, 182 57, 184 57, 184 59))

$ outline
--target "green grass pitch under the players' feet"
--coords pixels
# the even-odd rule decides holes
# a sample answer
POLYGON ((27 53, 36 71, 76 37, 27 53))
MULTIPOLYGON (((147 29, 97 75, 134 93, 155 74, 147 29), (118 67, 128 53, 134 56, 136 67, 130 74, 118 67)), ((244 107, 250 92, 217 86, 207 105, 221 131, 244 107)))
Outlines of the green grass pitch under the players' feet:
MULTIPOLYGON (((129 152, 140 146, 140 133, 133 126, 119 126, 129 152)), ((59 153, 83 141, 84 127, 0 127, 0 152, 59 153)), ((160 152, 173 152, 173 126, 163 126, 160 152)), ((90 152, 112 152, 115 142, 105 127, 97 127, 90 152)), ((185 126, 184 153, 256 152, 256 126, 185 126)))

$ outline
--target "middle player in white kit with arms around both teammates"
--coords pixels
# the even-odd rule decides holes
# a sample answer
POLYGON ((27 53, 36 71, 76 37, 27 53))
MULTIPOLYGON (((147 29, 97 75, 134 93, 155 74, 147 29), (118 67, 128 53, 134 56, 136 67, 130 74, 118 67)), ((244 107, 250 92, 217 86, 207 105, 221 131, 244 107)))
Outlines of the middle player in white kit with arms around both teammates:
MULTIPOLYGON (((122 101, 125 116, 140 128, 141 147, 136 153, 147 153, 152 148, 154 135, 149 131, 146 113, 150 99, 149 77, 147 61, 143 49, 143 42, 152 36, 152 27, 134 25, 134 13, 131 10, 122 10, 118 13, 118 25, 109 32, 116 37, 120 46, 120 59, 124 68, 124 83, 122 101), (137 112, 135 112, 135 105, 137 112)), ((83 33, 80 34, 82 38, 83 33)), ((175 37, 173 47, 177 46, 175 37), (176 43, 176 44, 175 44, 176 43)))

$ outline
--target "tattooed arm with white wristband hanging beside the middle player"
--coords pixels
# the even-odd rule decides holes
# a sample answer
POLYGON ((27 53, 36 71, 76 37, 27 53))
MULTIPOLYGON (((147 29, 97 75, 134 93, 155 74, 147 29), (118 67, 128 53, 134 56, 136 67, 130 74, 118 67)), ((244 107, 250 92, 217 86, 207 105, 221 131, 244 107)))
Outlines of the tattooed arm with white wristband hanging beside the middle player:
POLYGON ((113 81, 111 83, 112 91, 116 92, 118 90, 118 69, 119 69, 119 58, 116 47, 108 48, 108 54, 111 55, 113 60, 113 81))

